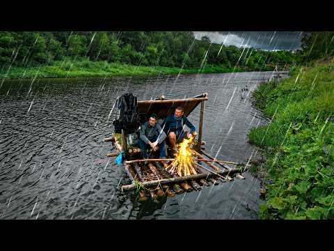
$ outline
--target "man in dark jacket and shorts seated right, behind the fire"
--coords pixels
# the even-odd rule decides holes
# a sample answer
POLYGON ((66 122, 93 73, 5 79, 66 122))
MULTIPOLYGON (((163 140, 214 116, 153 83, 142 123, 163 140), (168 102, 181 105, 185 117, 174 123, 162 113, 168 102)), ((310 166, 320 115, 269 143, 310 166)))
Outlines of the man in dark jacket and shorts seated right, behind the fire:
POLYGON ((176 142, 190 137, 190 134, 195 132, 196 128, 188 119, 186 119, 183 107, 177 107, 173 115, 167 116, 164 123, 164 130, 168 135, 168 141, 173 151, 177 151, 176 142), (184 125, 190 128, 190 133, 184 131, 184 125))

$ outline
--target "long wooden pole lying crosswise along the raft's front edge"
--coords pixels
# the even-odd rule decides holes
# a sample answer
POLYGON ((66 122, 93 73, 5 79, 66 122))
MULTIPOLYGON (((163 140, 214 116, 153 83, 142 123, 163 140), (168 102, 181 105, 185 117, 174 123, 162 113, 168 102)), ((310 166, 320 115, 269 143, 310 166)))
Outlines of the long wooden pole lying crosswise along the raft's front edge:
MULTIPOLYGON (((145 188, 148 188, 148 187, 157 186, 158 184, 164 185, 164 184, 170 184, 170 183, 179 183, 179 182, 188 181, 191 179, 200 179, 200 178, 206 178, 207 176, 208 177, 216 176, 217 174, 221 176, 225 174, 234 174, 235 172, 240 172, 240 170, 239 169, 221 170, 221 171, 217 171, 215 174, 213 174, 212 172, 209 172, 209 173, 195 174, 195 175, 175 177, 175 178, 163 178, 157 181, 146 181, 142 183, 142 185, 145 186, 145 188)), ((122 185, 121 187, 122 192, 134 190, 134 189, 136 189, 136 185, 134 184, 122 185)))

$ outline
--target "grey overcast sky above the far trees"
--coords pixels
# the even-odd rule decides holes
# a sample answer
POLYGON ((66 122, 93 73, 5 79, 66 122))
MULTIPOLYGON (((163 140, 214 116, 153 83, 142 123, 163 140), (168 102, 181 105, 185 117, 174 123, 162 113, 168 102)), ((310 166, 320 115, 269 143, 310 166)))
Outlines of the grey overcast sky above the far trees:
POLYGON ((194 31, 195 38, 208 36, 212 43, 255 47, 262 50, 295 50, 301 47, 301 31, 194 31))

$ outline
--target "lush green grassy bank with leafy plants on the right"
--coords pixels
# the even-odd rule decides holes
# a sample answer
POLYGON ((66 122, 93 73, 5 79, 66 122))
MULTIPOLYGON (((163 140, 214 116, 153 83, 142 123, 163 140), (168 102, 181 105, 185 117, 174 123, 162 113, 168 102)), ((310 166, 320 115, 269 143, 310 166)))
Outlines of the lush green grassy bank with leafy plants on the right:
POLYGON ((272 118, 248 135, 267 157, 265 219, 334 218, 334 61, 263 84, 257 106, 272 118))

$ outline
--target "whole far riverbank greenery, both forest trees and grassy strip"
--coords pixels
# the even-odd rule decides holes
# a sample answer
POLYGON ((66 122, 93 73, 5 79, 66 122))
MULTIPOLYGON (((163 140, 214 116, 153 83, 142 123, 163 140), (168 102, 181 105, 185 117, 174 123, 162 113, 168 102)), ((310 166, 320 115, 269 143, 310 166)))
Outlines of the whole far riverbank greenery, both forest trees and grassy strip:
POLYGON ((297 57, 198 40, 191 31, 0 31, 2 79, 266 71, 297 57))

